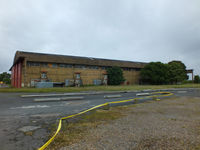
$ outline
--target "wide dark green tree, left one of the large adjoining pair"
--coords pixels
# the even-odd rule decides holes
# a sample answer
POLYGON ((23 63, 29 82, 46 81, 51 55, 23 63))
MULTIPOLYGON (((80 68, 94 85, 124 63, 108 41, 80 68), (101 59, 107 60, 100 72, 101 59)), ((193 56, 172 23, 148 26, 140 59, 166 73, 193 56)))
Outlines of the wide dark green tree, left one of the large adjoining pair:
POLYGON ((150 62, 141 70, 141 81, 145 84, 168 84, 168 65, 161 62, 150 62))

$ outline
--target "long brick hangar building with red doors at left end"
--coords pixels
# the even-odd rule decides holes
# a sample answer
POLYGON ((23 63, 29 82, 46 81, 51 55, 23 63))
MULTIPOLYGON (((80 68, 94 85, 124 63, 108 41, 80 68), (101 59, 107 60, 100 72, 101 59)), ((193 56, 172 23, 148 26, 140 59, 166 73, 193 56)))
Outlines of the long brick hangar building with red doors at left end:
POLYGON ((10 68, 13 87, 35 87, 38 83, 53 86, 107 84, 106 68, 123 69, 124 84, 138 84, 140 70, 147 63, 17 51, 10 68))

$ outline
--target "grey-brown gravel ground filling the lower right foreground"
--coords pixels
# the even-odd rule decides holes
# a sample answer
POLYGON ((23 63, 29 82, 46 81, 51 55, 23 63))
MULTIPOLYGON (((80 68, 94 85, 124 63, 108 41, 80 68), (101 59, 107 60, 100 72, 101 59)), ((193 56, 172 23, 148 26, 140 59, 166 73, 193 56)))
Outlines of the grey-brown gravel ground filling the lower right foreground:
POLYGON ((60 150, 200 149, 200 97, 143 103, 128 107, 125 114, 60 150))

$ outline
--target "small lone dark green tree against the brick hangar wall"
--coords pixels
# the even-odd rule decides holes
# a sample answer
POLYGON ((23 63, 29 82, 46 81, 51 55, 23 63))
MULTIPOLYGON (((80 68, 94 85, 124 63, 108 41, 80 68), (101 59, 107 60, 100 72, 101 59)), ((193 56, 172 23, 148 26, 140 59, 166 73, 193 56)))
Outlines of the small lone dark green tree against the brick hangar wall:
POLYGON ((108 85, 119 85, 125 81, 120 67, 111 67, 106 69, 106 71, 108 74, 108 85))

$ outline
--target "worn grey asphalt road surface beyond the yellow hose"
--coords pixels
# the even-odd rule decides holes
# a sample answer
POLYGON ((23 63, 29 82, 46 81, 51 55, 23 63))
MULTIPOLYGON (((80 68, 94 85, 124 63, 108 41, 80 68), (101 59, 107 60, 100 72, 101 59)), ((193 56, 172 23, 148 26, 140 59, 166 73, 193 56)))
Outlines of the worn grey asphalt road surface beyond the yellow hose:
MULTIPOLYGON (((198 89, 170 91, 175 96, 200 96, 198 89)), ((135 98, 136 93, 138 92, 83 95, 82 100, 57 102, 34 102, 34 97, 21 98, 20 95, 23 93, 0 93, 0 149, 36 149, 48 140, 48 127, 60 117, 78 113, 105 102, 135 98), (121 95, 122 97, 105 99, 106 95, 121 95), (34 128, 33 132, 29 132, 34 128), (28 132, 25 133, 26 129, 28 132)))

